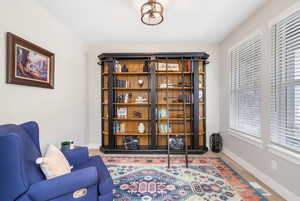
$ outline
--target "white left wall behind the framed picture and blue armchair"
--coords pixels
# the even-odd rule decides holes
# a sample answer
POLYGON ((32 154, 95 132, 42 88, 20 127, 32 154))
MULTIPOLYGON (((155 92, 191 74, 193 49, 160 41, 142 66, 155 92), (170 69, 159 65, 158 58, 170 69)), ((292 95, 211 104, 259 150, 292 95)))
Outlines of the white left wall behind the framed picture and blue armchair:
POLYGON ((41 144, 85 144, 86 47, 35 0, 0 0, 0 124, 30 120, 41 144), (6 84, 6 32, 55 53, 55 89, 6 84))

